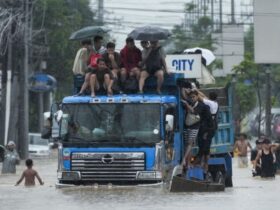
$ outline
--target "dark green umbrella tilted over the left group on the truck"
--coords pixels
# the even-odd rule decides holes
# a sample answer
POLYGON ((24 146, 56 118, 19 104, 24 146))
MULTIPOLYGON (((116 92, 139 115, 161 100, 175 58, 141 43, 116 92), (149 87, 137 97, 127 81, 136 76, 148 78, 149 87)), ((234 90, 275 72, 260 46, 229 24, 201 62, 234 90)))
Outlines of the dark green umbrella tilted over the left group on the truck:
POLYGON ((91 38, 93 36, 102 36, 103 34, 107 33, 111 29, 106 28, 104 26, 87 26, 78 31, 75 31, 69 37, 70 40, 81 40, 91 38))

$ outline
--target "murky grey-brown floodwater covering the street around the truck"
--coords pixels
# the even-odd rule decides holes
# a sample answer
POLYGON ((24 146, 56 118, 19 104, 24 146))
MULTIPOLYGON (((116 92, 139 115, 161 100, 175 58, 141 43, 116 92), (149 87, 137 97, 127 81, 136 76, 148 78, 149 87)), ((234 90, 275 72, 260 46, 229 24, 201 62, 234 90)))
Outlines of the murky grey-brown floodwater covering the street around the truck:
MULTIPOLYGON (((233 166, 234 187, 217 193, 170 193, 161 187, 71 187, 57 189, 55 155, 34 159, 45 184, 26 188, 14 186, 24 170, 24 161, 16 175, 0 175, 1 210, 216 210, 216 209, 278 209, 280 177, 262 180, 251 177, 251 168, 233 166)), ((1 168, 1 164, 0 164, 1 168)), ((38 182, 37 182, 38 183, 38 182)))

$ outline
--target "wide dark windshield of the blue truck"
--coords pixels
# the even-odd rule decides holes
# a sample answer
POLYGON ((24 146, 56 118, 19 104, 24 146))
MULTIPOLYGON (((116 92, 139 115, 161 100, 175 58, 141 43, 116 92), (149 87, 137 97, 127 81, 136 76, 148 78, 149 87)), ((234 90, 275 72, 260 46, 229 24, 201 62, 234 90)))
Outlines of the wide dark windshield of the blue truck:
POLYGON ((64 104, 64 140, 151 144, 160 141, 159 104, 64 104))

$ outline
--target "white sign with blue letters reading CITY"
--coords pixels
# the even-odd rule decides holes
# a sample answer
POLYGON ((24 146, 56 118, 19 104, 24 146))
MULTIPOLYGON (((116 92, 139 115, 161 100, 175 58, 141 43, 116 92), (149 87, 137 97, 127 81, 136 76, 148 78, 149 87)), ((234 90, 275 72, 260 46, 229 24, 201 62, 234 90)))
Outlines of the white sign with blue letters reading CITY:
POLYGON ((200 54, 167 55, 165 61, 171 73, 184 74, 185 78, 201 78, 200 54))

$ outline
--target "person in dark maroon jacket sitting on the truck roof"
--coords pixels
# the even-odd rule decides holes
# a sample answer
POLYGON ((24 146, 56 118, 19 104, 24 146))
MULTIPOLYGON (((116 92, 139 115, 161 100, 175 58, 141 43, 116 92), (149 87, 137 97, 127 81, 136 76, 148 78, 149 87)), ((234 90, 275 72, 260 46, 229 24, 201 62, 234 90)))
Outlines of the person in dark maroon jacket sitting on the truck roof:
POLYGON ((126 38, 126 45, 120 52, 121 55, 121 82, 123 83, 127 76, 140 78, 139 62, 142 60, 142 54, 139 48, 135 46, 131 37, 126 38))

